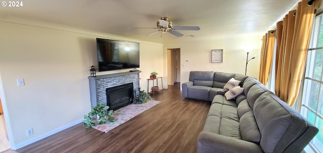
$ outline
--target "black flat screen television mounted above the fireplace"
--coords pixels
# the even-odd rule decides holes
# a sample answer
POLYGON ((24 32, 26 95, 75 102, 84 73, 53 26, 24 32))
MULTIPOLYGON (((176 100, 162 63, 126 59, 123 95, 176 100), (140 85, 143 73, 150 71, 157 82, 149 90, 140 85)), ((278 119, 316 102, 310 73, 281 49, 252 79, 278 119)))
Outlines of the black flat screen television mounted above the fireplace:
POLYGON ((139 68, 139 43, 96 38, 98 71, 139 68))

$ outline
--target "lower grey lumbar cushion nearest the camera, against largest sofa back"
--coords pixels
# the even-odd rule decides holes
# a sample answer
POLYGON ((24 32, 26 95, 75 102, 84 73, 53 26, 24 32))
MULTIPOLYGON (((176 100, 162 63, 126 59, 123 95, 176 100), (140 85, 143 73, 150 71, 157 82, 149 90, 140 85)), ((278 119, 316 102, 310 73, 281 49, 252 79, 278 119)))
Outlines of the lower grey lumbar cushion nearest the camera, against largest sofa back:
POLYGON ((259 143, 260 133, 253 112, 249 111, 240 118, 240 132, 243 140, 259 143))

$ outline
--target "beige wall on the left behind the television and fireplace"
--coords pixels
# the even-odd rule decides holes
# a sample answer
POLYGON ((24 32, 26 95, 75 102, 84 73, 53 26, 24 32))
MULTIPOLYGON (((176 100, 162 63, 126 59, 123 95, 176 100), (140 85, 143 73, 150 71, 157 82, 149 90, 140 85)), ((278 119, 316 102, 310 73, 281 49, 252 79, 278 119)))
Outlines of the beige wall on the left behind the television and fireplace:
MULTIPOLYGON (((56 30, 0 22, 0 81, 12 131, 19 148, 51 131, 80 122, 90 112, 88 79, 96 66, 96 37, 123 39, 108 34, 56 30), (25 86, 17 86, 23 78, 25 86), (34 134, 26 135, 33 128, 34 134)), ((163 45, 140 42, 140 86, 152 71, 163 76, 163 45)), ((97 75, 128 70, 99 72, 97 75)), ((49 134, 50 135, 50 134, 49 134)))

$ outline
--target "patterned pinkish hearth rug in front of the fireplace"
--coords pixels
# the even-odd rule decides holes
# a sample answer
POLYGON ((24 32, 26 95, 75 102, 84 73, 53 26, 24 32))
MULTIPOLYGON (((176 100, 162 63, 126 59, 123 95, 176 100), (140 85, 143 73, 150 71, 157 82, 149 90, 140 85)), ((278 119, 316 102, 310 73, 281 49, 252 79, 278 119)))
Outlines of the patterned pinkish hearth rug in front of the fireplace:
POLYGON ((116 122, 107 122, 105 124, 94 126, 95 129, 100 130, 102 132, 109 132, 115 127, 121 125, 122 123, 127 122, 133 117, 139 115, 140 113, 150 109, 151 107, 159 104, 160 101, 157 100, 149 100, 145 104, 130 104, 119 110, 114 111, 112 114, 114 115, 116 122))

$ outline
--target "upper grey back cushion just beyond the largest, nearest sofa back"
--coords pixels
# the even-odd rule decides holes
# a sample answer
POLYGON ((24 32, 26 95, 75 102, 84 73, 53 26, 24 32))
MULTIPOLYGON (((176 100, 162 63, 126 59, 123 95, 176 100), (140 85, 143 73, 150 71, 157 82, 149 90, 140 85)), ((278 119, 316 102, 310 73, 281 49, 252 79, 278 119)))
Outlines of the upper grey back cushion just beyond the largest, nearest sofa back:
POLYGON ((248 100, 248 103, 251 107, 251 109, 253 109, 253 105, 254 105, 254 102, 256 101, 256 99, 265 91, 267 91, 268 89, 263 86, 262 84, 254 84, 248 94, 247 94, 247 100, 248 100))

